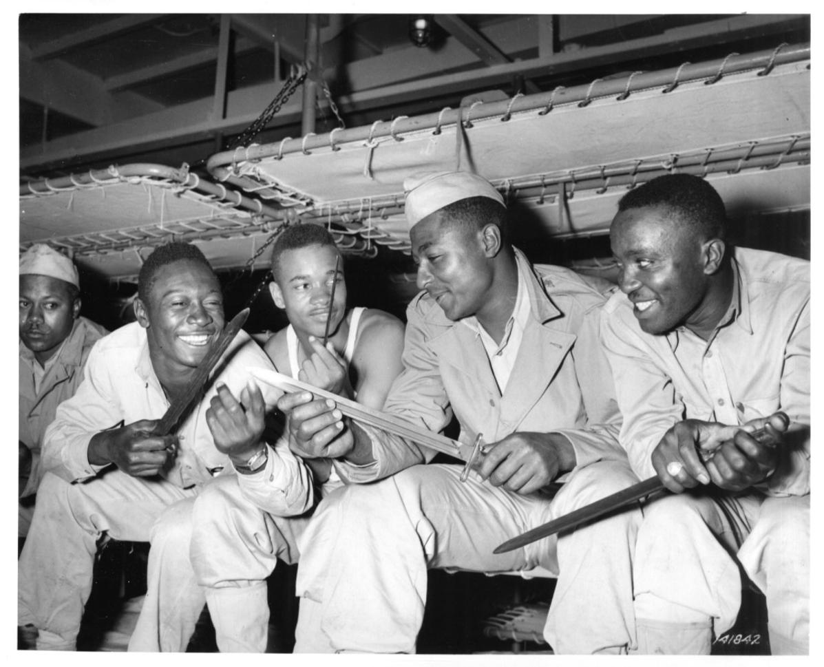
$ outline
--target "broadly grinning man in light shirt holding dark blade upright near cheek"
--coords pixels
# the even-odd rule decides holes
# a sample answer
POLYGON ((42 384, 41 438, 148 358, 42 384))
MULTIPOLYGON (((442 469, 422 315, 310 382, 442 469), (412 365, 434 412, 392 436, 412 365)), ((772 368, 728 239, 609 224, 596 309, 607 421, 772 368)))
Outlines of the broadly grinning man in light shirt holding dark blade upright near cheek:
MULTIPOLYGON (((179 576, 158 566, 162 536, 179 529, 178 516, 213 476, 231 473, 260 446, 265 397, 247 369, 271 364, 242 331, 176 435, 152 435, 224 326, 220 284, 204 255, 184 243, 154 250, 141 267, 134 307, 138 321, 95 344, 81 385, 44 436, 45 472, 17 571, 18 625, 38 628, 40 650, 76 648, 102 537, 152 542, 132 641, 175 632, 157 613, 163 591, 175 589, 179 576), (222 453, 218 441, 234 453, 222 453)), ((286 476, 299 467, 285 441, 269 456, 286 476)), ((174 607, 166 611, 176 613, 189 600, 166 602, 174 607)))

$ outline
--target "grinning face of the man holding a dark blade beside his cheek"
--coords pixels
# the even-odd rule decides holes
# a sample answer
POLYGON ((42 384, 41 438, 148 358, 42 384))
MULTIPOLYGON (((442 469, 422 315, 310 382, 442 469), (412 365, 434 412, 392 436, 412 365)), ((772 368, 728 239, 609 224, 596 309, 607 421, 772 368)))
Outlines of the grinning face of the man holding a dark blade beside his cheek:
POLYGON ((204 264, 178 259, 157 269, 135 315, 147 329, 152 367, 161 384, 180 384, 199 366, 223 329, 220 283, 204 264))

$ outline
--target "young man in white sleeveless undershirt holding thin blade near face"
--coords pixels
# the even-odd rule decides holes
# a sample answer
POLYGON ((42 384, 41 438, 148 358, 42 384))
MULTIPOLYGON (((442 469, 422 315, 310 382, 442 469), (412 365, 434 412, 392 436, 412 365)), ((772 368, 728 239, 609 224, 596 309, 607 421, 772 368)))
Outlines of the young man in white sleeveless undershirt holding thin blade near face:
MULTIPOLYGON (((400 372, 403 324, 382 310, 347 310, 343 261, 329 232, 311 224, 288 227, 274 242, 272 274, 274 303, 286 310, 290 323, 266 343, 275 367, 370 408, 382 408, 400 372), (324 347, 330 305, 330 337, 324 347)), ((218 439, 216 444, 221 445, 218 439)), ((279 463, 269 458, 268 449, 261 443, 259 450, 246 455, 250 464, 234 465, 236 477, 210 484, 194 502, 191 528, 168 533, 163 549, 164 567, 179 574, 171 585, 191 588, 196 580, 203 590, 220 651, 266 650, 266 578, 279 559, 297 562, 298 539, 311 520, 316 497, 341 485, 329 459, 308 459, 302 461, 307 468, 291 483, 291 491, 287 488, 296 496, 301 489, 303 501, 284 502, 283 476, 275 474, 279 463), (184 571, 194 572, 180 576, 184 571)), ((232 449, 225 451, 232 454, 232 449)), ((164 595, 194 600, 197 593, 167 590, 164 595)), ((179 605, 178 609, 179 618, 165 619, 166 625, 189 628, 189 634, 174 633, 178 644, 133 641, 130 650, 184 651, 199 607, 179 605)))

